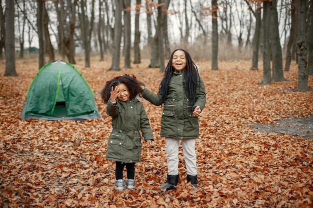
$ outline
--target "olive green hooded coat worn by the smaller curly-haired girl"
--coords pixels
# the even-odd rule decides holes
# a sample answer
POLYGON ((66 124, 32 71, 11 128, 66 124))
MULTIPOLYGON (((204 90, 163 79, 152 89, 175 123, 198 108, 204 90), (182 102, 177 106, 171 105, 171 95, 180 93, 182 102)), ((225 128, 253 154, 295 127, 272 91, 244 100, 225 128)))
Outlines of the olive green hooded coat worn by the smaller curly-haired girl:
POLYGON ((140 162, 141 130, 144 140, 153 140, 149 119, 137 99, 116 100, 106 105, 106 114, 112 117, 112 132, 107 142, 106 159, 124 163, 140 162))

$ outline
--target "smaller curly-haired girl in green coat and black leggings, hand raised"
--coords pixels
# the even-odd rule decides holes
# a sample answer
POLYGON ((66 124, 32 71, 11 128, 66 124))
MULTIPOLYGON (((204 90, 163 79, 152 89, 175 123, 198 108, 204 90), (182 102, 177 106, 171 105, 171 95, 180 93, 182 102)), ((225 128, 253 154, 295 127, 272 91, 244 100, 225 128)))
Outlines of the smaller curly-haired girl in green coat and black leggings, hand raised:
POLYGON ((148 146, 153 141, 149 119, 142 103, 136 98, 144 84, 124 74, 109 80, 101 91, 106 114, 112 118, 106 159, 115 161, 115 189, 135 189, 135 163, 140 162, 141 134, 148 146), (140 134, 141 131, 141 134, 140 134), (126 166, 127 178, 123 179, 126 166))

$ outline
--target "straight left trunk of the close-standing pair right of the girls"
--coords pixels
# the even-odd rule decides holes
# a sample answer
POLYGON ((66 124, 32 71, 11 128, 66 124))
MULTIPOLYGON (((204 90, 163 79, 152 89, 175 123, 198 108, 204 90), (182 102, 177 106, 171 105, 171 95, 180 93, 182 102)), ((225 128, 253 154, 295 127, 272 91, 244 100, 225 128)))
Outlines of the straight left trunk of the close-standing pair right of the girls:
POLYGON ((269 43, 269 23, 270 23, 269 1, 263 2, 263 78, 260 84, 271 84, 270 73, 270 43, 269 43))

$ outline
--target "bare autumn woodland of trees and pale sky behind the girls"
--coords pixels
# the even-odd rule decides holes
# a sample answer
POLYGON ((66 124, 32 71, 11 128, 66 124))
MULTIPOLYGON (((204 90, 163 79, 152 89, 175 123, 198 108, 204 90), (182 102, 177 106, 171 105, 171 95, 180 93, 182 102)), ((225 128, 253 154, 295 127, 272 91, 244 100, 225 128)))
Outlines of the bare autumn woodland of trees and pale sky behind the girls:
POLYGON ((0 6, 5 76, 17 75, 15 51, 22 58, 24 44, 29 53, 33 41, 38 69, 59 56, 74 64, 80 48, 84 67, 94 53, 101 61, 109 54, 109 70, 120 70, 121 58, 130 68, 150 54, 149 67, 164 71, 171 50, 183 47, 211 60, 211 70, 218 70, 222 54, 233 60, 241 53, 256 70, 261 53, 262 84, 284 81, 291 60, 298 64, 298 90, 307 90, 313 74, 312 0, 5 0, 0 6))

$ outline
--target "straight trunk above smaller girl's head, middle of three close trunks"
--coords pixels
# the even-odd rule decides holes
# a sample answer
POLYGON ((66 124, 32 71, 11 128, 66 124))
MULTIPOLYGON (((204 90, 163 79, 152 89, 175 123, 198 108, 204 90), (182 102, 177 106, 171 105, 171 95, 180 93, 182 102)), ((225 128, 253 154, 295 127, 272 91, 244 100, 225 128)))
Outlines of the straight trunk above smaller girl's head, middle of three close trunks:
POLYGON ((124 68, 130 68, 130 0, 124 0, 124 68))

